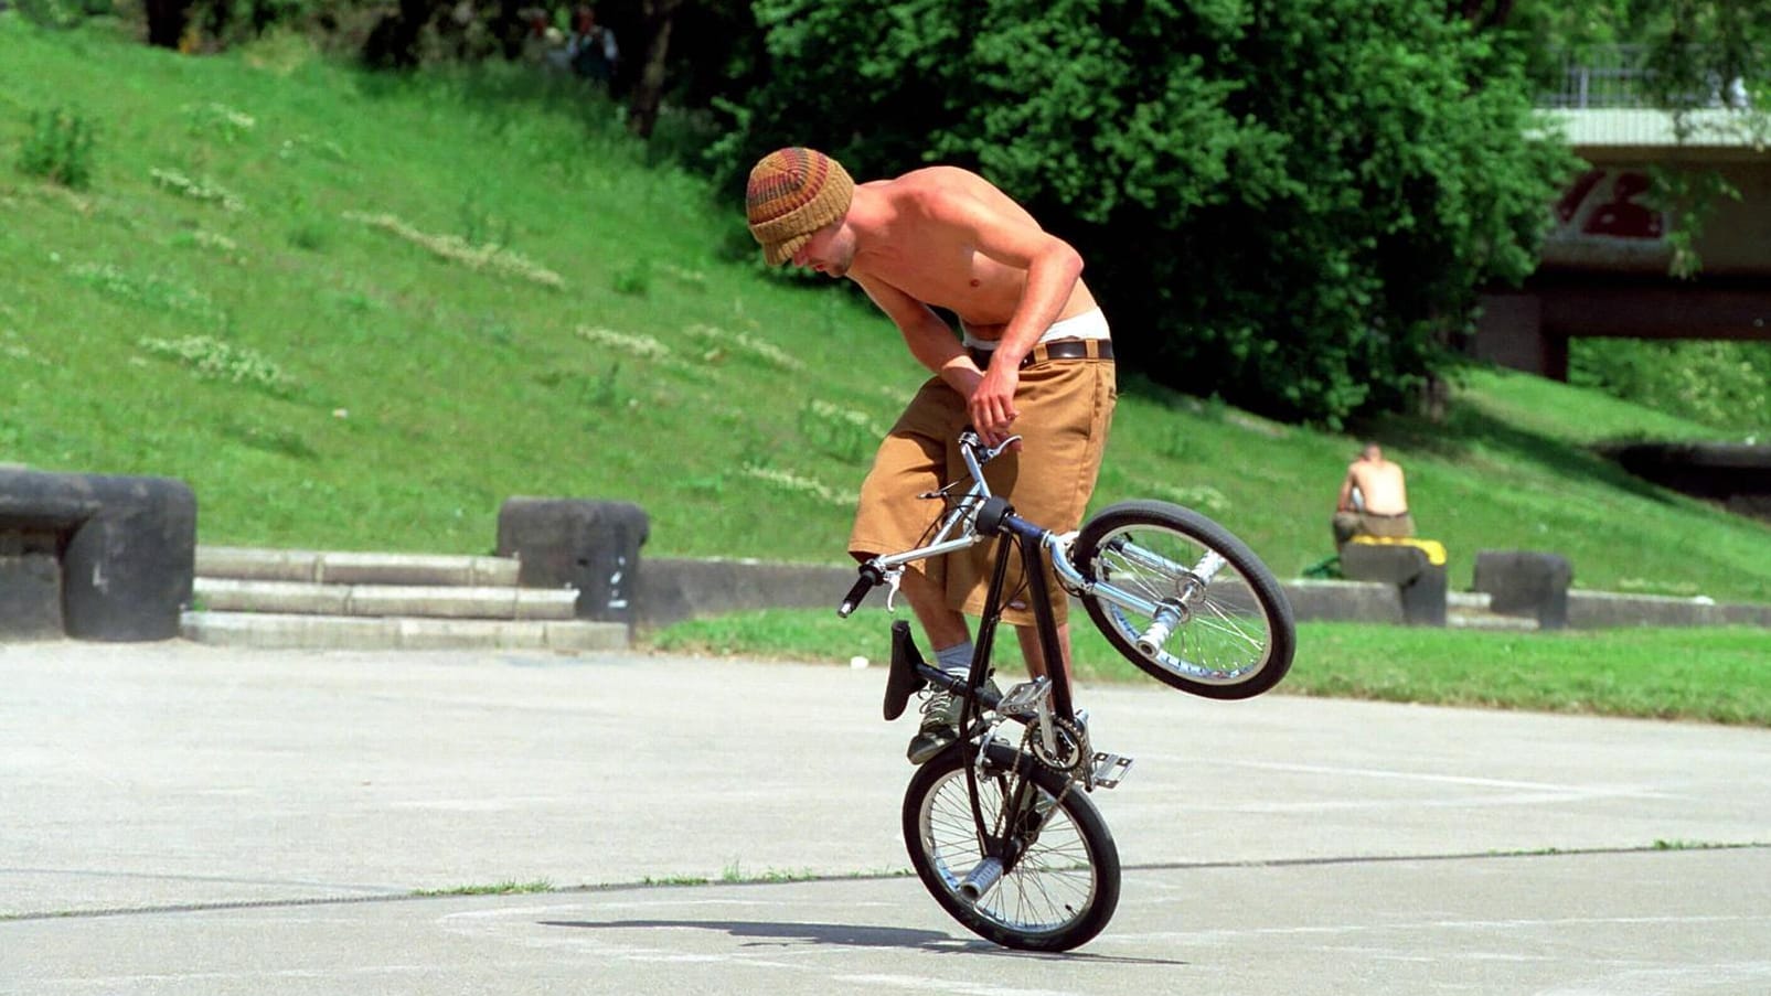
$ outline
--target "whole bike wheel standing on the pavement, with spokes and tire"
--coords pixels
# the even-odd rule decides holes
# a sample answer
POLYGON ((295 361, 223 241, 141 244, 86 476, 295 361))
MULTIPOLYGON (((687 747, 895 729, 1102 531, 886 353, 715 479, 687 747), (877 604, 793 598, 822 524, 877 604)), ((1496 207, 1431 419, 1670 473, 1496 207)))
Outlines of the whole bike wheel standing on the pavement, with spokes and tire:
POLYGON ((958 743, 917 768, 903 796, 903 840, 935 900, 965 929, 1008 948, 1066 952, 1096 934, 1119 906, 1119 849, 1100 810, 1068 778, 1006 743, 994 743, 978 771, 978 803, 988 837, 972 819, 965 762, 976 743, 958 743), (1006 814, 1031 778, 1031 810, 1006 814), (1068 789, 1068 791, 1066 791, 1068 789), (1024 847, 978 899, 963 893, 1001 837, 1024 847))

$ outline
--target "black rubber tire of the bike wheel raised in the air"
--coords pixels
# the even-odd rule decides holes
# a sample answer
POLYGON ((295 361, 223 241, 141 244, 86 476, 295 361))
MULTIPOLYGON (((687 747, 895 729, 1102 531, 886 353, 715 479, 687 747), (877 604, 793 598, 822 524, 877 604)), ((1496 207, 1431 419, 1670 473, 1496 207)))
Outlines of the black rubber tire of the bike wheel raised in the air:
POLYGON ((1082 594, 1080 600, 1084 609, 1087 609, 1089 617, 1094 621, 1094 628, 1107 637, 1107 642, 1151 678, 1204 699, 1252 699, 1254 695, 1270 690, 1273 685, 1279 685, 1286 672, 1291 670, 1291 656, 1296 649, 1296 624, 1291 617, 1291 601, 1286 600, 1284 589, 1279 587, 1279 578, 1275 578, 1273 571, 1261 563, 1261 557, 1257 557, 1241 540, 1231 534, 1229 529, 1224 529, 1217 522, 1211 522, 1190 508, 1165 501, 1126 501, 1103 508, 1098 515, 1089 518, 1077 534, 1077 541, 1071 547, 1070 555, 1071 563, 1079 571, 1082 571, 1084 577, 1096 580, 1093 575, 1094 555, 1100 550, 1102 540, 1126 525, 1171 529, 1210 550, 1215 550, 1220 557, 1229 561, 1233 568, 1241 571, 1241 577, 1249 582, 1249 589, 1254 593, 1261 612, 1266 616, 1270 646, 1266 662, 1245 681, 1229 685, 1195 681, 1187 676, 1174 674, 1158 662, 1144 656, 1144 653, 1139 651, 1137 646, 1112 623, 1107 616, 1105 605, 1094 596, 1082 594))

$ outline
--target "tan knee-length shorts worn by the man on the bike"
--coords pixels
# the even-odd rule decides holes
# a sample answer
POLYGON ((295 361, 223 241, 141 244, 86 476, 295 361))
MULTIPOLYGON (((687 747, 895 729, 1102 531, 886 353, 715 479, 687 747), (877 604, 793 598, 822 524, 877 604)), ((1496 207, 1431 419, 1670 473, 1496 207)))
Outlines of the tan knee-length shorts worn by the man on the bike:
MULTIPOLYGON (((1110 359, 1047 359, 1020 372, 1013 432, 1018 453, 1006 451, 985 467, 992 494, 1004 495, 1022 518, 1054 532, 1077 529, 1094 494, 1107 430, 1119 398, 1110 359)), ((916 393, 886 433, 873 469, 861 485, 848 552, 857 561, 912 550, 928 541, 946 502, 919 495, 969 478, 958 435, 971 421, 965 398, 940 377, 916 393)), ((923 561, 921 570, 946 587, 947 605, 983 614, 990 568, 1002 540, 923 561)), ((912 564, 912 570, 916 566, 912 564)), ((1054 617, 1063 623, 1070 600, 1045 568, 1054 617)), ((1002 621, 1031 626, 1032 609, 1018 557, 1009 559, 1002 621)))

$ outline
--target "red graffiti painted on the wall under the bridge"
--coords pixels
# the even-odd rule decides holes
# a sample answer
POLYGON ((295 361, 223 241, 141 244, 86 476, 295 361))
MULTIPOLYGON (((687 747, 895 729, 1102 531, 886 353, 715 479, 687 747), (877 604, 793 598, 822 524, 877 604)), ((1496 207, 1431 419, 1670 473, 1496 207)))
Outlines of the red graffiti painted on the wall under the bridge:
POLYGON ((1665 269, 1672 258, 1667 216, 1647 203, 1652 180, 1640 170, 1587 170, 1555 202, 1544 237, 1546 264, 1665 269))

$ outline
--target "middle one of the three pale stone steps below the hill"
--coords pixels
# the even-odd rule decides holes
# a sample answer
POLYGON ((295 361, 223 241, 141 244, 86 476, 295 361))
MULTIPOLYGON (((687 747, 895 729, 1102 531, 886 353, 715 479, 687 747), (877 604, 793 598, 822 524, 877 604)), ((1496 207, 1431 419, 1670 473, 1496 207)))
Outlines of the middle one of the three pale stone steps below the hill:
POLYGON ((540 587, 308 584, 198 577, 211 612, 303 616, 425 616, 441 619, 574 619, 577 593, 540 587))

